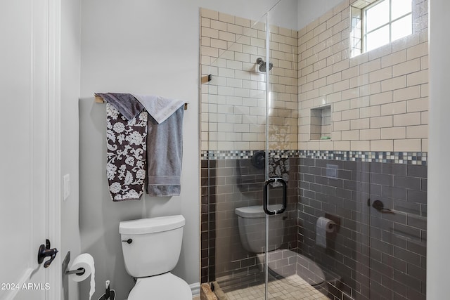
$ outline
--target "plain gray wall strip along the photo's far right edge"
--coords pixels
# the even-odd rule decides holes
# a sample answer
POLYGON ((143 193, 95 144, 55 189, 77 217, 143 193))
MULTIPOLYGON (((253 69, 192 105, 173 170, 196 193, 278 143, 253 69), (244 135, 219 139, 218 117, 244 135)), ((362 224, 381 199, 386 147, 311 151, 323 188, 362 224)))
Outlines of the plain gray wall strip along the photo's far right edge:
POLYGON ((428 162, 427 299, 446 299, 450 269, 449 220, 449 68, 446 24, 450 1, 430 0, 430 126, 428 162), (446 138, 442 138, 442 137, 446 138))

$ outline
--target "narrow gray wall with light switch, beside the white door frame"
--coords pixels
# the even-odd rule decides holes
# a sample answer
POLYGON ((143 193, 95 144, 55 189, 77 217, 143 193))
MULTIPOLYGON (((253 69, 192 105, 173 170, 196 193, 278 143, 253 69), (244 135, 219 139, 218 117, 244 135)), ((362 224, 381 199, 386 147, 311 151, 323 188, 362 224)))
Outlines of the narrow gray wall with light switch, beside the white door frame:
MULTIPOLYGON (((70 195, 61 203, 61 261, 68 251, 72 260, 80 249, 78 226, 78 98, 80 86, 81 0, 61 1, 61 175, 70 175, 70 195)), ((61 191, 63 189, 61 188, 61 191)), ((63 197, 63 195, 61 195, 63 197)), ((63 281, 66 299, 79 299, 77 282, 63 281)), ((63 299, 61 297, 61 299, 63 299)))

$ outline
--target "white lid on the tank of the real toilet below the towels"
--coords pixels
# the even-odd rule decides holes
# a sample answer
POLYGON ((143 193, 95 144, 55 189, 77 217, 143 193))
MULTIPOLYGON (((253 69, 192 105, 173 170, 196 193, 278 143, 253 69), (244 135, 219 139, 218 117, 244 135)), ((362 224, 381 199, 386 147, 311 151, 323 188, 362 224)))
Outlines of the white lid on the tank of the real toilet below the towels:
POLYGON ((184 216, 160 216, 156 218, 122 221, 119 233, 124 235, 143 235, 146 233, 160 233, 183 227, 186 223, 184 216))

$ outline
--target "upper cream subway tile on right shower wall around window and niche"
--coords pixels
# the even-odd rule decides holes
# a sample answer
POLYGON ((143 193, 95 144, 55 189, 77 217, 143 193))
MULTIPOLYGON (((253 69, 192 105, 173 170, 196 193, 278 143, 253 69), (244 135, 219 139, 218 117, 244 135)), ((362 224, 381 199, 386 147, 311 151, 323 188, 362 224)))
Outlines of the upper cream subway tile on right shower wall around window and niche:
POLYGON ((354 2, 299 31, 299 149, 426 151, 428 1, 413 0, 411 36, 349 58, 354 2), (331 141, 310 139, 314 127, 303 116, 318 104, 331 105, 331 141))

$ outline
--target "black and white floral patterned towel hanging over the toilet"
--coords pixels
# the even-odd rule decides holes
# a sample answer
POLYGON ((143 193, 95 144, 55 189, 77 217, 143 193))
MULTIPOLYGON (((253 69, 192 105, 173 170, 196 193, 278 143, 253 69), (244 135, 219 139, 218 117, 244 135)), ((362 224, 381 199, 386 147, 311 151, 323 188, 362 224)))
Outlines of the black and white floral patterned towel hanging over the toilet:
POLYGON ((129 121, 106 103, 106 176, 113 201, 139 200, 146 179, 147 112, 129 121))

